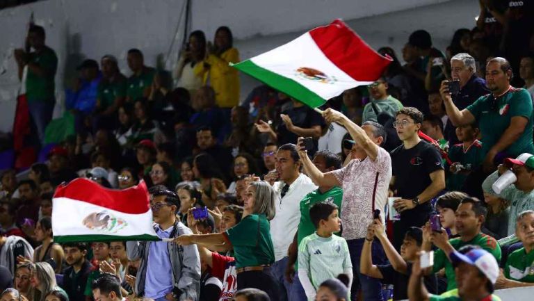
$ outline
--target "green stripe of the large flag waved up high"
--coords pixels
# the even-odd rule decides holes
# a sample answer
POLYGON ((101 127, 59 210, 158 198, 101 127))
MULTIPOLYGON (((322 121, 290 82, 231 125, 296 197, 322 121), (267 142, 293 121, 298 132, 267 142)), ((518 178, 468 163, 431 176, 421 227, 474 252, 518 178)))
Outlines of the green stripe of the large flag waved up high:
POLYGON ((297 83, 292 79, 288 79, 280 74, 276 74, 275 72, 266 70, 259 65, 252 63, 252 60, 245 60, 241 63, 233 64, 232 66, 237 70, 241 70, 255 79, 258 79, 259 81, 263 81, 268 86, 282 91, 294 99, 302 101, 312 108, 322 106, 326 102, 325 99, 321 98, 319 95, 312 92, 305 86, 302 86, 300 83, 297 83))

